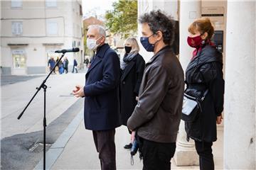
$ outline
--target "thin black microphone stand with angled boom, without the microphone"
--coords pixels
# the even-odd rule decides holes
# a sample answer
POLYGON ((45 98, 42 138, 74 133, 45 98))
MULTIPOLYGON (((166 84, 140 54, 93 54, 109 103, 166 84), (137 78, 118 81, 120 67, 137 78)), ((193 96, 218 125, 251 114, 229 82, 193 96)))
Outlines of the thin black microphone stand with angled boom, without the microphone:
MULTIPOLYGON (((64 57, 64 55, 65 55, 65 52, 63 52, 63 54, 61 55, 60 60, 64 57)), ((53 67, 53 69, 50 70, 50 73, 48 74, 46 79, 43 80, 42 84, 39 87, 36 87, 36 89, 37 89, 36 94, 38 94, 38 91, 40 91, 43 88, 43 96, 44 96, 43 97, 43 169, 44 170, 46 170, 46 126, 47 126, 46 125, 46 89, 47 89, 46 80, 48 79, 48 77, 50 77, 50 74, 52 74, 53 70, 58 65, 60 60, 58 60, 58 62, 53 67)), ((35 98, 36 94, 34 94, 34 96, 31 98, 31 101, 33 101, 33 98, 35 98)), ((26 111, 26 108, 28 108, 28 106, 30 105, 31 101, 28 102, 28 104, 23 109, 21 114, 18 115, 18 120, 21 118, 23 113, 26 111)))

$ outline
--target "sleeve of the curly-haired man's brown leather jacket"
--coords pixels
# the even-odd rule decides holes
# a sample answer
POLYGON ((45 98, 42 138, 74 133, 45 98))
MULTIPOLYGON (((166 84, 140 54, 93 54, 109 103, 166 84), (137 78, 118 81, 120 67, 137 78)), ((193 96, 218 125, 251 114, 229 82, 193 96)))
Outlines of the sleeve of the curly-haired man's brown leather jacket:
POLYGON ((154 117, 171 82, 166 68, 162 66, 152 67, 146 79, 144 91, 139 95, 138 104, 127 121, 129 130, 139 128, 154 117))

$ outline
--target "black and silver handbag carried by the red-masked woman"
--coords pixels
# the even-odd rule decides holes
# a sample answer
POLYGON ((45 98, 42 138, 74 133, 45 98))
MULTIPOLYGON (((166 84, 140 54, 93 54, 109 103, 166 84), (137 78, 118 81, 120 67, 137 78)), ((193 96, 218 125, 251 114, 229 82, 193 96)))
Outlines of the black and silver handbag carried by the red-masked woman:
POLYGON ((208 94, 208 89, 204 92, 202 98, 195 98, 184 93, 183 96, 183 106, 181 119, 188 123, 193 123, 202 112, 202 102, 206 95, 208 94))

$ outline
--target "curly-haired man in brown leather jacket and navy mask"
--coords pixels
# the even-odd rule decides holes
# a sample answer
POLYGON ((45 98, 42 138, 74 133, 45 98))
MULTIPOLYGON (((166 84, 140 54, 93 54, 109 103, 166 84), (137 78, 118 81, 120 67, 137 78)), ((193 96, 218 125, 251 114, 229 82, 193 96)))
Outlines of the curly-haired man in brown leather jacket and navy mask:
POLYGON ((184 74, 172 50, 174 21, 161 11, 139 19, 143 47, 154 56, 146 63, 139 100, 127 121, 132 140, 137 132, 143 169, 171 169, 181 121, 184 74))

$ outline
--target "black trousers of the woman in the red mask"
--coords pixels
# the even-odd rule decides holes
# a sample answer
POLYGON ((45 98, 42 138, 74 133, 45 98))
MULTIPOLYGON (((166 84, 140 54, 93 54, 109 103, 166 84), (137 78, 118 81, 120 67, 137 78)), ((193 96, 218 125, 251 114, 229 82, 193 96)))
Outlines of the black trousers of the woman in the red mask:
POLYGON ((213 142, 197 142, 196 144, 196 152, 199 155, 199 165, 200 170, 214 170, 214 162, 213 162, 213 142))

